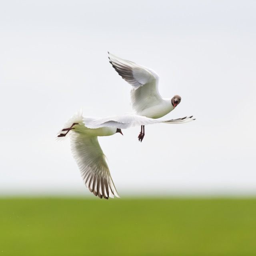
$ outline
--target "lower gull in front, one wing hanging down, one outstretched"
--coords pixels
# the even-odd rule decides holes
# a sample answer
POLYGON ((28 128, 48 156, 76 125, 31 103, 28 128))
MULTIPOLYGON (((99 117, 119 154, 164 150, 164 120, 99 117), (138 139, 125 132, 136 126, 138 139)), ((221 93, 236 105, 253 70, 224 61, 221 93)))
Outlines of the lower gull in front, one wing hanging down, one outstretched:
POLYGON ((121 128, 160 122, 179 124, 192 121, 192 116, 176 120, 159 120, 137 115, 108 116, 106 118, 83 117, 82 110, 74 114, 58 132, 56 140, 70 137, 71 151, 86 187, 100 198, 120 197, 114 186, 98 136, 110 136, 121 128), (72 128, 71 128, 72 127, 72 128), (71 129, 70 129, 71 128, 71 129), (69 130, 70 129, 70 130, 69 130))

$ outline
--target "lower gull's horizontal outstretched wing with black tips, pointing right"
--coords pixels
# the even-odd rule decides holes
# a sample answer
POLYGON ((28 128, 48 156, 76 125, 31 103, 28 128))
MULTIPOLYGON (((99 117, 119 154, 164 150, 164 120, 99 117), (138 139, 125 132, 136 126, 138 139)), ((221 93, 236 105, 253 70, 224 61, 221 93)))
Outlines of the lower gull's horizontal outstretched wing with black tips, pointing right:
POLYGON ((120 115, 120 116, 109 116, 106 118, 92 118, 87 119, 83 118, 84 125, 88 128, 100 128, 100 127, 117 127, 120 129, 126 129, 132 126, 140 126, 147 124, 156 124, 156 123, 168 123, 168 124, 181 124, 190 122, 192 116, 172 119, 172 120, 161 120, 148 118, 146 116, 137 116, 137 115, 120 115))

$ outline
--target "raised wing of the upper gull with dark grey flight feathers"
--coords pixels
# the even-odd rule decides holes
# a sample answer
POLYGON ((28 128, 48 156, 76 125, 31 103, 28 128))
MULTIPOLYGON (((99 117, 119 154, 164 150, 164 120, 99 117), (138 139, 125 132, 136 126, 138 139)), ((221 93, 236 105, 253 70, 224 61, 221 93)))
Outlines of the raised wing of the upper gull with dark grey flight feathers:
POLYGON ((123 60, 110 53, 108 58, 116 72, 132 85, 131 104, 137 114, 162 101, 158 92, 159 76, 154 70, 123 60))

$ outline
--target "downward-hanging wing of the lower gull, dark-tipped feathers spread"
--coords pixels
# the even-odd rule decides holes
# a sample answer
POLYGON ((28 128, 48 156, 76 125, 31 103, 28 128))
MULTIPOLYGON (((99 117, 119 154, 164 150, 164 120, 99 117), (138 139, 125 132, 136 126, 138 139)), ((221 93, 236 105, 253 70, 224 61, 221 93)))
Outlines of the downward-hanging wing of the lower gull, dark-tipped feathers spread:
POLYGON ((86 187, 99 198, 119 197, 112 181, 106 156, 100 148, 98 137, 80 132, 70 136, 71 150, 86 187))

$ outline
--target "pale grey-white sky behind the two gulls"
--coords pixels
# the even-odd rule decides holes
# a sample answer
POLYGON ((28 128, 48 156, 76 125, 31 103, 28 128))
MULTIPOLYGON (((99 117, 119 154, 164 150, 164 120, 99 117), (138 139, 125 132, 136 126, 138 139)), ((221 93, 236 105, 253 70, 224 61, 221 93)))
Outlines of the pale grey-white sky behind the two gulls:
POLYGON ((256 194, 255 1, 2 1, 0 196, 91 193, 54 137, 85 116, 130 112, 107 51, 155 70, 166 119, 99 138, 120 196, 256 194))

